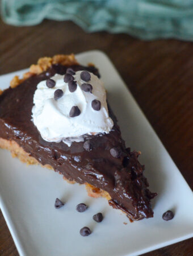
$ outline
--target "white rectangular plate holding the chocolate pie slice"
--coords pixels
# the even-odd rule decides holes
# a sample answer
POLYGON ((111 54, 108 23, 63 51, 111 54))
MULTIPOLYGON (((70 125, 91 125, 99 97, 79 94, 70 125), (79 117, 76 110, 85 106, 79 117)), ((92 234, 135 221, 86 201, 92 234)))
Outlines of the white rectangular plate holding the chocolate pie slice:
MULTIPOLYGON (((192 191, 115 67, 100 51, 81 53, 77 59, 99 67, 127 146, 142 152, 140 162, 145 164, 150 191, 158 193, 152 200, 154 218, 131 223, 106 199, 87 196, 84 185, 68 184, 61 175, 40 166, 27 167, 0 150, 0 207, 19 254, 139 255, 192 237, 192 191), (54 209, 56 197, 65 201, 63 208, 54 209), (75 210, 79 203, 89 205, 86 212, 75 210), (162 214, 169 209, 175 217, 163 221, 162 214), (101 223, 92 218, 97 212, 104 214, 101 223), (91 228, 89 237, 80 236, 83 226, 91 228)), ((0 88, 7 88, 11 78, 24 71, 1 76, 0 88)))

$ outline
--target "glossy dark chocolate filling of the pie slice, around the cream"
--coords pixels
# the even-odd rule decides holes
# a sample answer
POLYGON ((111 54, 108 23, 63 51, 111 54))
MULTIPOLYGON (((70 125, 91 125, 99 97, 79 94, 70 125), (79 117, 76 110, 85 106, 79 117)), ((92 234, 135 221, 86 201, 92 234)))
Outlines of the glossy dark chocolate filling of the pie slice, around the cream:
MULTIPOLYGON (((74 71, 87 70, 99 76, 94 67, 74 65, 72 68, 74 71)), ((14 89, 5 90, 0 96, 0 137, 14 140, 41 164, 50 164, 67 179, 81 184, 87 182, 104 189, 112 198, 110 205, 123 210, 132 220, 153 217, 150 199, 156 194, 147 189, 148 182, 142 175, 144 167, 137 160, 139 154, 125 147, 110 107, 108 109, 114 127, 109 134, 86 137, 91 142, 91 151, 83 148, 84 142, 73 142, 70 147, 63 142, 46 142, 33 125, 31 110, 36 85, 55 73, 63 75, 65 72, 65 66, 52 65, 47 72, 30 77, 14 89), (119 158, 110 154, 114 147, 121 150, 119 158)))

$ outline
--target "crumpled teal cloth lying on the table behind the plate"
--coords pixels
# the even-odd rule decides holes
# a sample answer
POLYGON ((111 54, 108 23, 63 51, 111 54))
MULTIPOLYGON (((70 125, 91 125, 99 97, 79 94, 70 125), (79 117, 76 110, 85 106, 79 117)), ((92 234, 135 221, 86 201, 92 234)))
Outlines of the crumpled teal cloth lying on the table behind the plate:
POLYGON ((73 20, 89 32, 193 40, 193 0, 2 0, 1 15, 15 26, 73 20))

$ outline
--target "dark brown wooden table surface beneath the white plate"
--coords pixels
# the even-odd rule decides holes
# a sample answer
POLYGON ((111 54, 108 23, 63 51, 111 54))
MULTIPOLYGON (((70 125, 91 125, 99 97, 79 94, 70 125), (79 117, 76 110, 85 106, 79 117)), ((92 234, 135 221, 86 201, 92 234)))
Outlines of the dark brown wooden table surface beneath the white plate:
MULTIPOLYGON (((106 52, 193 188, 193 43, 87 34, 72 22, 49 20, 22 28, 0 21, 0 36, 0 75, 26 68, 41 56, 91 49, 106 52)), ((18 255, 2 213, 0 255, 18 255)), ((193 238, 145 255, 193 255, 193 238)))

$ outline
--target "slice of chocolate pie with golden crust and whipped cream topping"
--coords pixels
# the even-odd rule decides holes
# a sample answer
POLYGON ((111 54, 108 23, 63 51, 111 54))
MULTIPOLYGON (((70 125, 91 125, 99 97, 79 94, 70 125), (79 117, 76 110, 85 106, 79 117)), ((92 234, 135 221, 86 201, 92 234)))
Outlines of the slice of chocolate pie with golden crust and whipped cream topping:
POLYGON ((140 152, 125 147, 98 69, 74 55, 44 57, 0 94, 0 147, 86 184, 89 196, 106 197, 131 220, 153 217, 156 193, 140 152))

